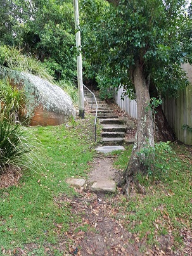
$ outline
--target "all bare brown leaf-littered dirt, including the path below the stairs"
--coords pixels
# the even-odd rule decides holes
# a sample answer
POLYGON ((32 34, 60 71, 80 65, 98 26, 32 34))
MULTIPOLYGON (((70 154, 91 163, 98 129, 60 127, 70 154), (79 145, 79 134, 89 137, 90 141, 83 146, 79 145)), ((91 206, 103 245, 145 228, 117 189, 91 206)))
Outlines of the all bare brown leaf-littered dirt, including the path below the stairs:
MULTIPOLYGON (((93 172, 90 179, 109 175, 117 179, 122 175, 120 170, 113 168, 113 157, 98 157, 93 163, 93 172)), ((186 159, 188 161, 188 159, 186 159)), ((21 174, 19 170, 10 169, 8 174, 1 176, 0 188, 15 186, 21 174)), ((172 251, 174 238, 172 236, 172 227, 169 223, 169 217, 163 217, 167 225, 170 224, 170 232, 165 235, 155 234, 157 245, 152 247, 146 243, 149 233, 143 238, 139 238, 137 233, 129 232, 127 228, 126 207, 124 198, 120 189, 116 195, 103 195, 101 193, 91 193, 89 185, 86 189, 75 189, 79 196, 68 198, 67 195, 60 194, 54 198, 58 207, 63 204, 68 205, 72 212, 72 221, 67 232, 63 233, 65 223, 55 223, 54 235, 58 243, 44 245, 42 255, 58 255, 54 250, 60 252, 60 255, 192 255, 192 234, 190 230, 181 229, 183 248, 172 251), (120 204, 121 202, 121 204, 120 204)), ((132 196, 136 195, 134 188, 132 196)), ((143 199, 143 195, 139 195, 143 199)), ((191 202, 192 203, 192 202, 191 202)), ((136 209, 134 209, 136 210, 136 209)), ((137 220, 136 220, 137 221, 137 220)), ((158 226, 161 223, 155 223, 158 226)), ((0 248, 2 255, 37 255, 34 250, 39 248, 38 241, 25 245, 25 249, 15 248, 12 251, 5 251, 0 248)))

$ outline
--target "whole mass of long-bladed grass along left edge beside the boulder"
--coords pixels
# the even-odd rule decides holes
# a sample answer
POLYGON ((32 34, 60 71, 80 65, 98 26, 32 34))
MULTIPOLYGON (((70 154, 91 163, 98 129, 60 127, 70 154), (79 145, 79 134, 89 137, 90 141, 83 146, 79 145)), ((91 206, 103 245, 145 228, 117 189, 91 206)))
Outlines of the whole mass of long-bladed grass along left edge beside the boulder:
POLYGON ((13 166, 36 169, 39 161, 34 148, 39 147, 38 141, 18 119, 25 103, 23 92, 8 82, 0 85, 0 174, 13 166))

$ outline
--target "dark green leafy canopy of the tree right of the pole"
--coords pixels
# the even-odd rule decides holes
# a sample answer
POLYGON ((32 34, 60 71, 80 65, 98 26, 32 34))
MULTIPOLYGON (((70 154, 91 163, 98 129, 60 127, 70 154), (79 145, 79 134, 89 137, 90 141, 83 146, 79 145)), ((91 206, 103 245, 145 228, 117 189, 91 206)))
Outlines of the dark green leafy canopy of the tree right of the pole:
POLYGON ((105 85, 122 85, 128 95, 132 93, 136 61, 159 95, 176 96, 178 89, 188 85, 186 72, 181 68, 189 56, 184 54, 186 48, 188 53, 191 49, 190 16, 185 13, 185 1, 122 0, 113 4, 113 1, 84 0, 81 3, 82 49, 90 65, 87 75, 102 77, 98 79, 100 89, 106 90, 105 85))

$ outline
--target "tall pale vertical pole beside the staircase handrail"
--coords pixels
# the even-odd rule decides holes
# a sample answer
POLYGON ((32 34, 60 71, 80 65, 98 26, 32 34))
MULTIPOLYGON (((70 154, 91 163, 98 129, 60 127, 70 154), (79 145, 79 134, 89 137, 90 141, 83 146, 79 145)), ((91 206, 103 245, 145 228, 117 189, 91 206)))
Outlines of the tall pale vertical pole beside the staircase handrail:
POLYGON ((74 13, 75 13, 75 38, 76 38, 76 48, 77 54, 77 80, 78 80, 78 91, 79 91, 79 116, 84 118, 84 90, 82 84, 82 56, 81 56, 81 46, 80 46, 80 27, 79 27, 79 6, 78 0, 74 0, 74 13))

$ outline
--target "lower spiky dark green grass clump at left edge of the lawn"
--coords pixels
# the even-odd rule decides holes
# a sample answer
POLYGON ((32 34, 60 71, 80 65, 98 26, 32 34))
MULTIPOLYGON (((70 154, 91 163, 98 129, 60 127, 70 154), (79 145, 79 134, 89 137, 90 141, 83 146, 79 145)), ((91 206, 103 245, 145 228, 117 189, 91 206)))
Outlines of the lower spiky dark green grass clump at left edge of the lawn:
POLYGON ((41 144, 29 133, 27 127, 6 119, 0 122, 0 174, 11 166, 42 169, 42 162, 35 154, 35 148, 41 148, 41 144))

